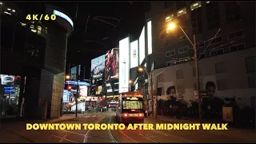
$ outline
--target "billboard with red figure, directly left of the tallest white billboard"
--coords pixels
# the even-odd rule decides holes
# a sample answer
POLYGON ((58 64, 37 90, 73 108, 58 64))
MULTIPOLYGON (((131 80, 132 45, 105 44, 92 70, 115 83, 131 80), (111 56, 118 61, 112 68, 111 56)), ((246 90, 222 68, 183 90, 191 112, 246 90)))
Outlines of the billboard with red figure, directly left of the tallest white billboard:
POLYGON ((105 58, 105 80, 106 83, 118 82, 119 78, 119 49, 113 48, 106 52, 105 58))

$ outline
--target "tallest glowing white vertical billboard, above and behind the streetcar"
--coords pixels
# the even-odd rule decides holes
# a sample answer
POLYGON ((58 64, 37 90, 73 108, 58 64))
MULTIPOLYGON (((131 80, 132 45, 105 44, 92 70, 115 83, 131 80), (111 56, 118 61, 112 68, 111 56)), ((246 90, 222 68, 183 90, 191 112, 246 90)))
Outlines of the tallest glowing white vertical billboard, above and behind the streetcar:
POLYGON ((119 41, 119 93, 129 91, 130 38, 119 41))

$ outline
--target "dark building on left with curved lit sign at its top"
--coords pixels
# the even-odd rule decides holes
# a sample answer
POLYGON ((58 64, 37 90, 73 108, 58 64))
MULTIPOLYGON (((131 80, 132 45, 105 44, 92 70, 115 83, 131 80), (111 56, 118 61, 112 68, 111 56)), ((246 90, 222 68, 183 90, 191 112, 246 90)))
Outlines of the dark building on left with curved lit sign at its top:
POLYGON ((6 37, 2 38, 1 74, 20 75, 23 79, 18 107, 24 110, 17 113, 23 111, 19 115, 25 118, 58 118, 62 112, 66 46, 73 31, 72 20, 63 10, 50 5, 26 10, 15 2, 2 2, 2 10, 2 30, 12 33, 2 33, 6 37), (32 21, 26 19, 28 14, 56 18, 32 21), (10 43, 5 39, 11 39, 10 43))

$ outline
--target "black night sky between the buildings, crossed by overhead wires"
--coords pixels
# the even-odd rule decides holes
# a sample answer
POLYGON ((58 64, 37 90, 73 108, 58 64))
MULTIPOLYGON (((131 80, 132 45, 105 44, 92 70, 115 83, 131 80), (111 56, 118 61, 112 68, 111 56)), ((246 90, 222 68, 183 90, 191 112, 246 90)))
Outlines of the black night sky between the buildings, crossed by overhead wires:
MULTIPOLYGON (((49 2, 48 2, 49 3, 49 2)), ((90 74, 90 60, 118 46, 119 40, 128 34, 140 34, 144 26, 145 12, 150 2, 50 2, 69 13, 74 21, 74 33, 68 40, 67 61, 86 65, 86 77, 90 74), (75 19, 78 4, 78 17, 75 19), (86 27, 88 15, 90 18, 86 27), (95 20, 96 16, 114 26, 95 20), (85 31, 86 30, 86 31, 85 31), (92 42, 94 41, 94 42, 92 42), (78 52, 79 51, 79 52, 78 52), (101 52, 102 51, 102 52, 101 52)))

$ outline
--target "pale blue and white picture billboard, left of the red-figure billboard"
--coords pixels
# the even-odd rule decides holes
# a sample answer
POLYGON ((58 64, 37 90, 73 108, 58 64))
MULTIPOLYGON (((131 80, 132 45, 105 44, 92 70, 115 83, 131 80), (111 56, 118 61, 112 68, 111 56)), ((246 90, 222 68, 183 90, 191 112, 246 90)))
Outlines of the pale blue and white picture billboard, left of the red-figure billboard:
POLYGON ((105 55, 91 60, 90 76, 93 79, 100 79, 104 74, 105 69, 105 55))

